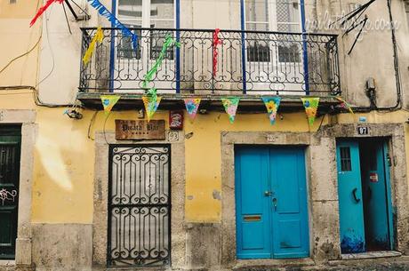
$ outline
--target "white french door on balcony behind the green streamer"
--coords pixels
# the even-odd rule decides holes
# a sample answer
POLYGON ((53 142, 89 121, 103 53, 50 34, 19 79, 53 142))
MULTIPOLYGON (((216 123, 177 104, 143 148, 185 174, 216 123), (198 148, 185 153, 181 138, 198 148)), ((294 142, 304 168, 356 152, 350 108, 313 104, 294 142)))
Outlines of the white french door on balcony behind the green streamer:
MULTIPOLYGON (((117 0, 116 16, 139 37, 138 48, 132 48, 129 37, 116 34, 113 74, 115 92, 143 92, 144 76, 155 64, 162 50, 165 37, 175 36, 174 31, 157 28, 175 28, 175 0, 117 0), (141 29, 138 29, 141 28, 141 29)), ((175 72, 175 50, 170 48, 158 68, 152 83, 161 92, 172 92, 172 78, 175 72)), ((175 79, 175 78, 174 78, 175 79)), ((174 80, 173 80, 174 81, 174 80)), ((173 86, 174 88, 174 86, 173 86)))

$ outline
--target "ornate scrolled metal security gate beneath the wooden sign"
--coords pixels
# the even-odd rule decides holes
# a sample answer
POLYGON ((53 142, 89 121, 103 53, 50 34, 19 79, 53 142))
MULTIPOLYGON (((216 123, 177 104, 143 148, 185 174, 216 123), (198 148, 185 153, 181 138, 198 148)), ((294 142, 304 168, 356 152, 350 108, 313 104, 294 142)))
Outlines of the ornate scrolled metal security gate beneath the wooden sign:
POLYGON ((169 266, 170 147, 109 148, 108 266, 169 266))

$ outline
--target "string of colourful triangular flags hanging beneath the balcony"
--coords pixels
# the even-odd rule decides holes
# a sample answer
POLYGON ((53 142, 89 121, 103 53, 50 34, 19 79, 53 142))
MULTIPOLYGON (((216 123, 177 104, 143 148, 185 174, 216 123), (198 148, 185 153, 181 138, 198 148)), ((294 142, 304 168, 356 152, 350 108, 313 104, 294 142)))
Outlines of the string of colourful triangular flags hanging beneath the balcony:
MULTIPOLYGON (((120 99, 120 97, 121 96, 117 94, 100 96, 106 115, 108 115, 108 113, 112 110, 112 108, 114 108, 116 102, 120 99)), ((346 109, 348 109, 349 112, 353 114, 352 108, 350 108, 349 104, 346 103, 345 100, 342 100, 339 97, 335 97, 335 98, 342 102, 341 107, 347 107, 346 109)), ((156 113, 156 110, 159 107, 159 103, 161 99, 162 99, 161 97, 157 96, 155 89, 150 90, 146 95, 142 97, 143 104, 144 104, 145 111, 146 111, 147 118, 148 118, 148 122, 152 119, 152 116, 154 116, 154 114, 156 113)), ((261 100, 267 109, 270 124, 272 125, 275 124, 277 111, 278 111, 278 108, 281 102, 281 97, 279 96, 262 97, 261 100)), ((196 117, 198 108, 200 106, 201 99, 186 98, 186 99, 183 99, 183 101, 185 103, 185 108, 188 113, 188 116, 192 120, 194 120, 196 117)), ((319 98, 306 97, 306 98, 301 98, 301 101, 305 108, 305 113, 308 117, 309 126, 312 126, 317 117, 319 98)), ((229 122, 231 124, 233 124, 235 121, 239 102, 240 102, 239 97, 221 98, 221 103, 227 115, 229 116, 229 122)))

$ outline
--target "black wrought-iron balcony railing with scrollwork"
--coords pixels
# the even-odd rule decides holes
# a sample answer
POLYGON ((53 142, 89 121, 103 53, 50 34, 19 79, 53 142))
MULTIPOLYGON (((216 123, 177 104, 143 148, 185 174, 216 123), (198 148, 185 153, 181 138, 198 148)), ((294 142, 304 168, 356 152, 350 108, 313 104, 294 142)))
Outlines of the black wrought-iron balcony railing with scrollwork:
MULTIPOLYGON (((96 28, 82 28, 82 55, 96 28)), ((162 50, 170 47, 148 88, 162 93, 277 94, 325 96, 341 92, 337 36, 322 34, 222 30, 213 72, 213 30, 132 28, 129 37, 103 28, 92 60, 81 61, 80 92, 142 93, 144 76, 162 50)))

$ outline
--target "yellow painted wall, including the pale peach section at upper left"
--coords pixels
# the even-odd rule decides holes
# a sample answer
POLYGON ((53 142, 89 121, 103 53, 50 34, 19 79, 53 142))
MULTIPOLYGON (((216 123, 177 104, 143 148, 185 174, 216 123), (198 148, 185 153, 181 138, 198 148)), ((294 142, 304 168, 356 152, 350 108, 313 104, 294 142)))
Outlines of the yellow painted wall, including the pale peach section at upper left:
MULTIPOLYGON (((0 1, 0 51, 3 52, 0 54, 0 69, 14 57, 27 52, 41 33, 40 24, 28 28, 38 2, 19 0, 15 6, 4 3, 8 1, 0 1)), ((35 86, 38 50, 36 47, 0 73, 0 86, 35 86)), ((56 92, 64 91, 63 87, 56 86, 56 92)), ((94 142, 88 139, 88 130, 94 112, 84 110, 82 120, 71 120, 63 115, 65 108, 36 107, 30 90, 0 92, 0 110, 18 108, 34 108, 37 112, 32 221, 92 223, 94 142)), ((229 124, 228 116, 221 112, 197 115, 194 123, 186 118, 185 133, 193 133, 185 139, 186 220, 218 222, 221 219, 221 202, 213 198, 213 192, 221 191, 221 132, 309 131, 303 112, 283 116, 283 120, 278 117, 274 126, 269 124, 267 114, 238 114, 235 124, 229 124)), ((338 120, 339 123, 352 123, 357 122, 358 116, 366 116, 368 123, 404 123, 409 114, 404 110, 388 114, 344 114, 338 116, 338 120)), ((116 118, 136 119, 136 110, 113 112, 105 127, 107 131, 114 129, 116 118)), ((155 118, 167 120, 167 112, 159 112, 155 118)), ((103 113, 98 113, 90 128, 91 138, 94 132, 103 130, 104 121, 103 113)), ((312 131, 317 130, 320 121, 318 118, 312 131)), ((406 134, 409 134, 407 126, 406 134)), ((409 140, 406 139, 406 153, 408 151, 409 140)))

